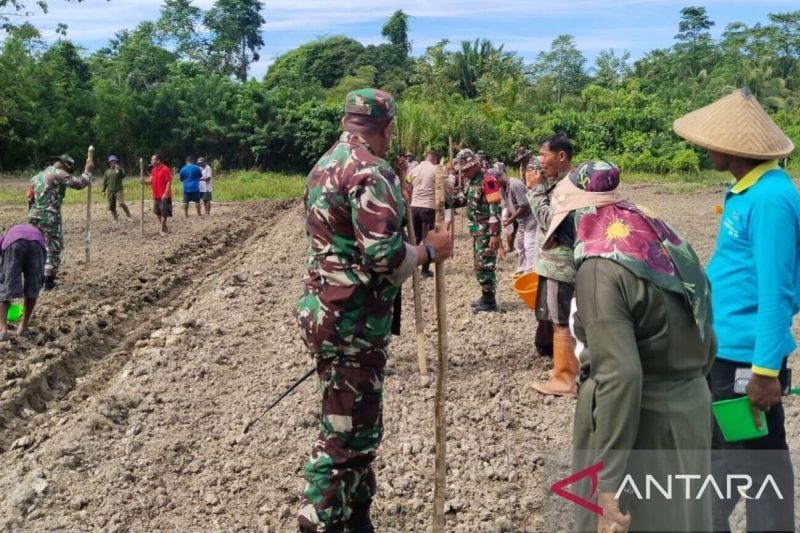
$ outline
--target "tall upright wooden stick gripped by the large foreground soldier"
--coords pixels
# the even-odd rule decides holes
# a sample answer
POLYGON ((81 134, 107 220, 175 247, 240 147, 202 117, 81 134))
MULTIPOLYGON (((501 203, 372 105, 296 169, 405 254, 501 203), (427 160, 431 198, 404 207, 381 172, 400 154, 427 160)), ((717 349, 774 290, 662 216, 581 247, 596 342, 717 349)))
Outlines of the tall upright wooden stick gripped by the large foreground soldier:
MULTIPOLYGON (((436 172, 436 229, 444 229, 444 169, 436 172)), ((438 362, 436 373, 436 404, 434 421, 436 425, 436 464, 433 487, 433 531, 444 532, 444 501, 447 489, 447 434, 445 403, 447 401, 447 298, 444 274, 444 261, 436 263, 436 321, 439 330, 438 362)))

